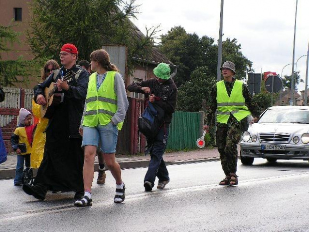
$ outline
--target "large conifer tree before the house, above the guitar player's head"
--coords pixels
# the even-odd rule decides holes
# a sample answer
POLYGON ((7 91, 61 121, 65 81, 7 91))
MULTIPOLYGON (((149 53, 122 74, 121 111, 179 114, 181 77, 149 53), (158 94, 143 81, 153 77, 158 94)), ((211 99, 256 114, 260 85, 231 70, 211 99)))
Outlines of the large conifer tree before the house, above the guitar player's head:
MULTIPOLYGON (((136 17, 135 0, 33 0, 32 22, 27 38, 36 57, 51 56, 59 61, 64 43, 78 47, 79 59, 104 44, 128 47, 128 65, 133 56, 143 56, 153 46, 152 36, 142 36, 129 20, 136 17), (69 10, 68 10, 69 9, 69 10)), ((152 28, 151 28, 152 29, 152 28)))

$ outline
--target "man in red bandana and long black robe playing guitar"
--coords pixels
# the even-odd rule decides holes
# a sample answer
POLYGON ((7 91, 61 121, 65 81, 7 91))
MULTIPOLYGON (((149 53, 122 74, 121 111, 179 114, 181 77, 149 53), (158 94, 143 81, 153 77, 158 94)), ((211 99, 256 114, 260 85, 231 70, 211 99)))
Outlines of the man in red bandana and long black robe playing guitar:
POLYGON ((41 165, 33 186, 23 185, 23 191, 44 200, 50 191, 74 191, 76 199, 84 195, 82 137, 79 125, 83 115, 89 73, 76 66, 78 51, 75 45, 64 44, 60 52, 63 65, 42 83, 34 87, 34 101, 45 105, 44 89, 55 83, 55 93, 61 94, 60 103, 46 128, 46 143, 41 165), (70 82, 62 81, 69 71, 75 74, 70 82))

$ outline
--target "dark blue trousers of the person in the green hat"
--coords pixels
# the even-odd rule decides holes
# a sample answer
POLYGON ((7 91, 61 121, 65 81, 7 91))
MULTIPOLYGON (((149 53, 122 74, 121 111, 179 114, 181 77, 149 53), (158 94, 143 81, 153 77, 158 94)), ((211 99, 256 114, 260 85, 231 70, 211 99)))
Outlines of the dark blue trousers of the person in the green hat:
POLYGON ((168 171, 163 160, 163 154, 167 143, 168 130, 169 124, 165 124, 165 126, 163 125, 158 134, 155 136, 154 141, 147 141, 148 144, 153 143, 153 147, 150 150, 151 158, 144 182, 151 182, 153 187, 155 177, 159 179, 159 182, 169 180, 168 171))

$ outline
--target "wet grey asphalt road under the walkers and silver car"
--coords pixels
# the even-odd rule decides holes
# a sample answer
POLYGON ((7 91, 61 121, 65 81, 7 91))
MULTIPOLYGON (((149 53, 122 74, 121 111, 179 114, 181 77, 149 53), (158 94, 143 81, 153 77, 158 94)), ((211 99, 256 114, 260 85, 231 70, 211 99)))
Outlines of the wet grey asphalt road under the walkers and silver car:
MULTIPOLYGON (((164 190, 144 192, 145 168, 123 170, 126 200, 114 204, 110 173, 93 184, 93 206, 73 206, 74 193, 24 194, 13 180, 0 181, 2 232, 307 232, 309 162, 257 159, 239 163, 239 185, 218 186, 220 162, 170 165, 164 190)), ((96 177, 95 177, 96 178, 96 177)))

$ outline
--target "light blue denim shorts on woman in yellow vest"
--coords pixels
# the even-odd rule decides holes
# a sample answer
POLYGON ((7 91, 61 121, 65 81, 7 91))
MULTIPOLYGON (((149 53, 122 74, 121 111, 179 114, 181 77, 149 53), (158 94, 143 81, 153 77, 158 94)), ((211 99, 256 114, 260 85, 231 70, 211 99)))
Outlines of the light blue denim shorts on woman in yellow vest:
POLYGON ((96 127, 83 127, 83 142, 82 147, 91 145, 99 148, 103 153, 115 153, 118 139, 117 126, 109 122, 102 126, 96 127))

